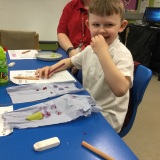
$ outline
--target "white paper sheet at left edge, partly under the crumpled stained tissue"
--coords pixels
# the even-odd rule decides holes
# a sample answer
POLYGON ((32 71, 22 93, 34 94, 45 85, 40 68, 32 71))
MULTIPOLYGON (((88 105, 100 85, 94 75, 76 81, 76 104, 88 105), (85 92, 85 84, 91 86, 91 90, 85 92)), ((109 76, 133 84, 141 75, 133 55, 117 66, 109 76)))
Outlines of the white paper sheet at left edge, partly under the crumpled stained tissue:
POLYGON ((0 136, 7 136, 13 132, 13 129, 5 129, 5 120, 2 118, 3 113, 11 111, 13 111, 13 106, 0 107, 0 136))

